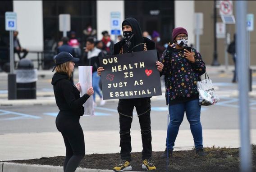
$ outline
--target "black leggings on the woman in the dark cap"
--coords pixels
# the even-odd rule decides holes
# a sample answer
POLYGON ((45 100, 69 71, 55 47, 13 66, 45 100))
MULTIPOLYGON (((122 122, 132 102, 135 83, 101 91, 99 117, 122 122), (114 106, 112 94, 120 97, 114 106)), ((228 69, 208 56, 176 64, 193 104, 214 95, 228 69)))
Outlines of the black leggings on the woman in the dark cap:
POLYGON ((74 172, 85 154, 84 136, 79 117, 58 114, 56 127, 66 146, 64 172, 74 172))

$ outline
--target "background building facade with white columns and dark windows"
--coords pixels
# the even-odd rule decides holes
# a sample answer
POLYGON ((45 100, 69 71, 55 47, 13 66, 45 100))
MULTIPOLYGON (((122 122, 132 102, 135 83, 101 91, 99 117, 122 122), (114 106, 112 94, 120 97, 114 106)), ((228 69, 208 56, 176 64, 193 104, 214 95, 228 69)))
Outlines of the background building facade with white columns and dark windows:
MULTIPOLYGON (((248 2, 248 13, 256 14, 256 1, 248 2)), ((97 30, 97 39, 102 38, 101 32, 111 31, 110 13, 119 12, 121 22, 124 18, 134 17, 142 27, 142 31, 160 33, 163 44, 172 42, 174 27, 185 27, 188 32, 189 45, 196 45, 194 34, 194 14, 203 13, 203 33, 200 36, 200 52, 206 62, 211 64, 214 51, 214 9, 213 0, 175 0, 175 1, 143 1, 143 0, 14 0, 1 1, 0 22, 5 21, 5 12, 17 13, 17 28, 23 47, 33 51, 43 51, 50 40, 56 42, 63 33, 59 32, 59 14, 71 15, 71 30, 78 38, 83 39, 83 30, 90 24, 97 30)), ((219 9, 217 9, 219 11, 219 9)), ((235 16, 235 1, 233 1, 235 16)), ((219 14, 217 22, 221 22, 219 14)), ((235 25, 226 25, 230 39, 233 40, 235 25)), ((6 35, 5 26, 0 25, 1 35, 6 35)), ((122 32, 121 32, 122 34, 122 32)), ((114 40, 114 35, 111 36, 114 40)), ((250 32, 251 65, 256 65, 253 50, 256 48, 255 31, 250 32)), ((217 39, 218 62, 225 64, 225 39, 217 39)), ((229 55, 229 64, 233 64, 229 55)))

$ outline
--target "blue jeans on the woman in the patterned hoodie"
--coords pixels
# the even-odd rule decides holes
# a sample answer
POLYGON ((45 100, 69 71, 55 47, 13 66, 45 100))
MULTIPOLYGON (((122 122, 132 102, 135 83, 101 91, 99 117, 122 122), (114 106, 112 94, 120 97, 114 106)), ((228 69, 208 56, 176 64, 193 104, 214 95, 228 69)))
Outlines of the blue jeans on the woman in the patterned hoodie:
POLYGON ((190 124, 196 149, 203 148, 202 126, 200 122, 201 105, 199 100, 191 100, 180 104, 169 105, 169 125, 167 129, 166 147, 174 149, 174 142, 178 135, 178 129, 183 121, 184 112, 190 124))

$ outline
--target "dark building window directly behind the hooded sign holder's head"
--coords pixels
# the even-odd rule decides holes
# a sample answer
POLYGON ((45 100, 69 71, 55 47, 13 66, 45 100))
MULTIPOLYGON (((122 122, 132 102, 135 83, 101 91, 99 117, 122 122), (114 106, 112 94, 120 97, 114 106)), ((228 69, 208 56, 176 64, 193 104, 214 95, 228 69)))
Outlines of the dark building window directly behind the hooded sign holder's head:
POLYGON ((139 22, 142 32, 153 31, 160 34, 162 44, 171 41, 174 29, 174 1, 173 0, 125 0, 125 18, 133 17, 139 22))

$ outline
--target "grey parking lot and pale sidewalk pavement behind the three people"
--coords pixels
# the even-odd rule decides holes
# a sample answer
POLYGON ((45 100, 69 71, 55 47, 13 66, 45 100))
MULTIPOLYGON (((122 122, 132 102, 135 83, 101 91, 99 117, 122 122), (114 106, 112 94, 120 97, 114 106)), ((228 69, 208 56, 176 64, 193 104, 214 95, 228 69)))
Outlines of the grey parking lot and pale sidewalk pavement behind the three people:
MULTIPOLYGON (((251 68, 254 71, 252 91, 249 93, 251 143, 256 144, 256 67, 251 68)), ((225 66, 207 66, 206 69, 221 100, 214 106, 202 107, 203 144, 205 147, 212 147, 213 145, 215 147, 239 147, 239 92, 238 83, 231 82, 233 66, 229 66, 228 69, 225 66)), ((58 109, 55 106, 53 89, 50 85, 52 75, 53 72, 50 70, 38 71, 37 99, 8 100, 8 74, 0 72, 0 160, 64 156, 63 138, 54 125, 58 109), (46 111, 49 113, 47 117, 43 114, 46 111)), ((78 72, 74 72, 75 82, 78 81, 77 78, 78 72)), ((165 149, 168 110, 165 105, 164 94, 165 88, 162 83, 162 95, 151 99, 153 151, 165 149)), ((97 98, 98 104, 99 101, 97 98)), ((85 134, 86 154, 117 153, 120 151, 117 101, 107 100, 105 106, 96 107, 97 115, 95 117, 81 118, 81 125, 85 134), (104 144, 102 144, 103 140, 104 144)), ((137 119, 134 119, 133 126, 131 131, 132 151, 140 152, 142 151, 142 143, 137 119)), ((191 131, 185 118, 175 144, 174 150, 193 148, 191 131)))

